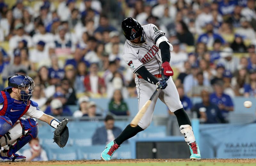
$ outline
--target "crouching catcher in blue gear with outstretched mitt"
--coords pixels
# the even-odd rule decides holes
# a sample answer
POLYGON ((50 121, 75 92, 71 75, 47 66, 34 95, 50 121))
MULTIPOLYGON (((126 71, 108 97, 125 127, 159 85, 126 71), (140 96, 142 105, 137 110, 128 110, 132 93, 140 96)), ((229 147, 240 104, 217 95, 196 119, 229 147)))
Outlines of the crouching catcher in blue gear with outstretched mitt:
POLYGON ((62 122, 44 114, 38 109, 38 104, 30 100, 33 79, 28 76, 15 74, 8 78, 8 87, 0 92, 0 161, 21 162, 26 157, 16 154, 38 134, 36 119, 44 121, 55 128, 54 141, 59 147, 64 147, 68 141, 68 119, 62 122), (29 118, 22 117, 23 115, 29 118), (35 119, 36 118, 36 119, 35 119))

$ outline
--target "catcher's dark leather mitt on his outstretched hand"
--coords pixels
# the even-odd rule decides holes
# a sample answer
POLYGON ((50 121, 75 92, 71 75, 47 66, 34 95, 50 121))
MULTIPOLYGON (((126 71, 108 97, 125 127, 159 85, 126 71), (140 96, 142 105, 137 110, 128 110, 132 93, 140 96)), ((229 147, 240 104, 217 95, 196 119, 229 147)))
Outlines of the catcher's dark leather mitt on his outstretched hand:
POLYGON ((68 119, 64 118, 54 131, 53 142, 56 142, 59 147, 65 147, 68 142, 69 134, 67 124, 68 119))

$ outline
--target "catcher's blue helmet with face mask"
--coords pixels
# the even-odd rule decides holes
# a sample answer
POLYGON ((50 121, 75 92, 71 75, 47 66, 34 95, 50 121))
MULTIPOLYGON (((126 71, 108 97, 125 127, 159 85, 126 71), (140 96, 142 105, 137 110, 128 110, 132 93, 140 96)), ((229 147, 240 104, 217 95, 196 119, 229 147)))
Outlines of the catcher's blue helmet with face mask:
POLYGON ((33 94, 33 87, 35 87, 34 80, 28 76, 15 74, 14 76, 8 78, 8 87, 4 88, 4 90, 12 87, 17 87, 20 89, 21 100, 26 105, 29 105, 29 100, 33 94))

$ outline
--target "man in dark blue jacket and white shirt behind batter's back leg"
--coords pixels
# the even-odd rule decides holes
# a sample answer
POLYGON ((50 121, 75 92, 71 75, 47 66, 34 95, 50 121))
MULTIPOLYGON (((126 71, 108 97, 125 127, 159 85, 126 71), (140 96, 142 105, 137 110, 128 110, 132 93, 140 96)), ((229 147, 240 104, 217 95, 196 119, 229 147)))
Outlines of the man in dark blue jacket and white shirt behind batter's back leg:
POLYGON ((114 126, 114 123, 114 118, 111 115, 107 115, 104 120, 104 126, 97 128, 93 134, 92 145, 105 145, 107 142, 115 140, 122 130, 114 126))

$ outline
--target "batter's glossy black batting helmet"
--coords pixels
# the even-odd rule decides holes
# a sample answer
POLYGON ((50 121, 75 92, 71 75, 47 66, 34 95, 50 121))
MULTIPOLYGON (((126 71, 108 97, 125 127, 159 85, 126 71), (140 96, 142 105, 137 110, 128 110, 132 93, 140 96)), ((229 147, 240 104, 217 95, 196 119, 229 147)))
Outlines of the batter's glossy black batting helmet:
POLYGON ((127 40, 134 40, 143 33, 143 28, 136 19, 128 17, 122 21, 123 34, 127 40))

